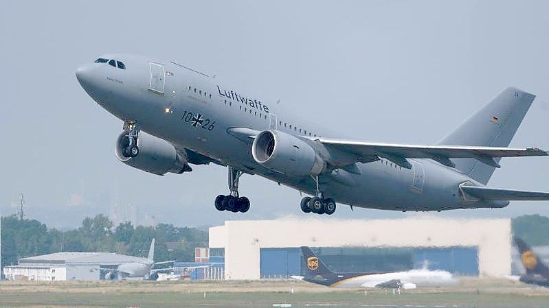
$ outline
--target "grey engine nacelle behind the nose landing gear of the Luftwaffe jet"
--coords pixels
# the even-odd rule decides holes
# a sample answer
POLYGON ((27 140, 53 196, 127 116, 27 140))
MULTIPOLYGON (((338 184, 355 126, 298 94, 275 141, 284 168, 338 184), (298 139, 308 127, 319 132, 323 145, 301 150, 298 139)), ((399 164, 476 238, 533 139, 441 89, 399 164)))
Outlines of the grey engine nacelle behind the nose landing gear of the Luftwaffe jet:
POLYGON ((124 148, 129 144, 127 132, 122 132, 116 141, 116 157, 131 167, 163 176, 168 172, 181 174, 188 171, 187 158, 177 152, 175 147, 164 139, 154 137, 146 132, 139 132, 137 147, 139 153, 128 157, 124 148))

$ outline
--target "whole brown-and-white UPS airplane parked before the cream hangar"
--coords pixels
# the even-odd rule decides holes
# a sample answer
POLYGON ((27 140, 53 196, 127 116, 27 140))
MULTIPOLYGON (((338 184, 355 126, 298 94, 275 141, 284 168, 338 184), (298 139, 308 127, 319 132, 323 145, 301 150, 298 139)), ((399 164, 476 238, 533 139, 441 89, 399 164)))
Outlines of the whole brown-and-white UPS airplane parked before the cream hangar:
POLYGON ((415 289, 416 287, 451 285, 457 283, 450 272, 429 270, 426 266, 405 272, 335 273, 326 268, 311 248, 301 248, 306 261, 306 275, 294 279, 326 285, 328 287, 381 287, 390 289, 415 289))

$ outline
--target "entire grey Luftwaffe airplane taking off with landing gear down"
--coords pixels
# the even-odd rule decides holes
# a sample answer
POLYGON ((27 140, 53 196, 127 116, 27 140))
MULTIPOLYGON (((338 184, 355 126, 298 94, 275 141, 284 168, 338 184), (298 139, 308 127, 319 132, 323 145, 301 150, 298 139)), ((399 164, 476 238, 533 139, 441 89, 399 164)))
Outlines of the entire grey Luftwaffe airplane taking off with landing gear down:
POLYGON ((549 193, 486 187, 502 157, 547 156, 508 148, 535 95, 506 88, 436 145, 340 139, 281 104, 219 84, 173 61, 107 54, 76 69, 82 88, 124 121, 115 154, 164 175, 214 163, 228 169, 219 211, 246 212, 238 179, 257 174, 309 194, 306 213, 336 202, 371 209, 444 211, 501 208, 549 193))

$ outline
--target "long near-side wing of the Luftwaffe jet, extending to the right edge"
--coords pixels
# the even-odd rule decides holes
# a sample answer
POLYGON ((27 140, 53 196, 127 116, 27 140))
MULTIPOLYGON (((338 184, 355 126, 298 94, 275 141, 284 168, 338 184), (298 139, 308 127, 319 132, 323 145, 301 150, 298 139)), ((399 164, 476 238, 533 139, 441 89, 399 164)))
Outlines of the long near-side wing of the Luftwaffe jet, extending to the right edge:
POLYGON ((469 145, 407 145, 393 143, 370 143, 362 141, 348 141, 337 139, 322 139, 306 137, 317 141, 335 150, 353 154, 356 162, 370 163, 383 157, 396 165, 410 169, 412 165, 407 158, 429 158, 438 161, 442 165, 455 167, 450 158, 475 158, 476 160, 490 165, 500 167, 494 158, 519 157, 519 156, 548 156, 548 152, 539 150, 536 147, 524 149, 513 149, 509 147, 482 147, 469 145))

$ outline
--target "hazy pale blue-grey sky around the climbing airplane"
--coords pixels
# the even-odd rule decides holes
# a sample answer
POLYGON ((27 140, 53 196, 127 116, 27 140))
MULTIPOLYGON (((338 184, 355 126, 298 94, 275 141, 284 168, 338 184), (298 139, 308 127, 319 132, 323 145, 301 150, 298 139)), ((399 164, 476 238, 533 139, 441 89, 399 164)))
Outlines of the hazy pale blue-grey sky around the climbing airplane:
MULTIPOLYGON (((226 170, 154 176, 115 158, 122 122, 74 71, 120 52, 175 60, 281 99, 364 141, 435 143, 506 86, 537 95, 512 146, 549 149, 548 1, 2 1, 0 211, 50 226, 133 204, 156 222, 309 217, 299 193, 243 176, 251 210, 219 213, 226 170)), ((494 187, 549 191, 549 158, 504 158, 494 187)), ((432 215, 549 215, 549 202, 432 215)), ((340 206, 331 217, 403 217, 340 206)), ((406 215, 415 215, 407 213, 406 215)), ((323 217, 328 219, 328 217, 323 217)))

